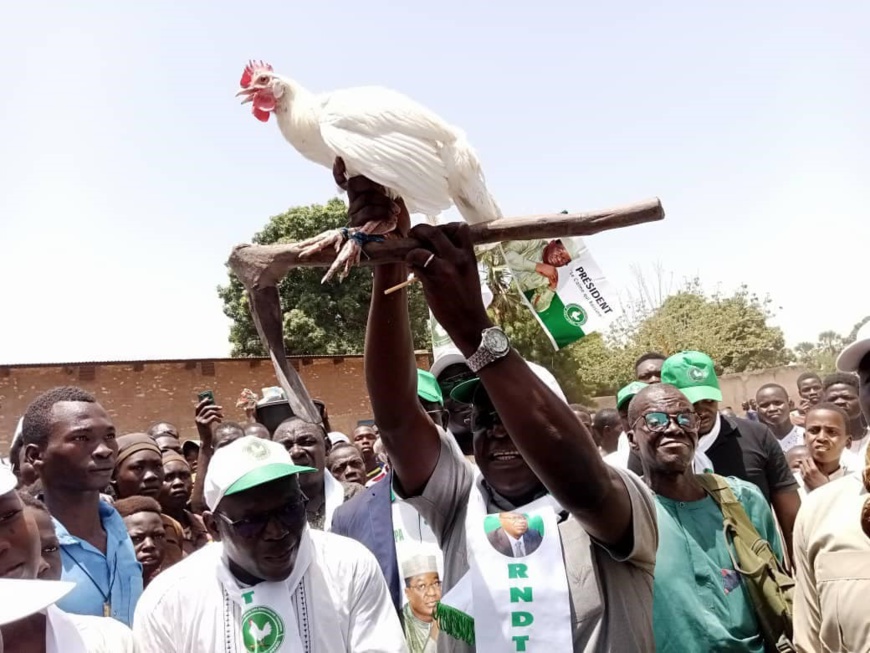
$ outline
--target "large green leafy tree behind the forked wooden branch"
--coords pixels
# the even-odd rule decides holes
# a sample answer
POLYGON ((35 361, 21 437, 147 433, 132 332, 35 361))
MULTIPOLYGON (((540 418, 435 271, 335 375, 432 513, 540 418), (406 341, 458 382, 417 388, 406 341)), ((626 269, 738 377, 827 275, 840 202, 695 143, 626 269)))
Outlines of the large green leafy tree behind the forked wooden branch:
MULTIPOLYGON (((252 242, 258 245, 302 240, 347 225, 347 207, 338 198, 326 205, 298 206, 273 216, 252 242)), ((343 282, 321 285, 320 268, 292 270, 278 285, 284 310, 284 345, 288 354, 361 354, 372 293, 371 270, 357 268, 343 282)), ((232 272, 218 288, 224 313, 232 320, 232 356, 263 356, 265 350, 251 318, 244 286, 232 272)), ((414 346, 428 349, 428 311, 418 287, 409 288, 414 346)))

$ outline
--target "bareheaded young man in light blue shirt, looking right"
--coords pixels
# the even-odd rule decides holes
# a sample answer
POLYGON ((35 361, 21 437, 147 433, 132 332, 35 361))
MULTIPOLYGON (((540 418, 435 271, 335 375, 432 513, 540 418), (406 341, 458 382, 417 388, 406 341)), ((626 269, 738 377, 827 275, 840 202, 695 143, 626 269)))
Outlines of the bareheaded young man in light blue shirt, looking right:
POLYGON ((100 501, 118 455, 112 420, 90 393, 55 388, 27 407, 23 437, 55 521, 63 580, 76 583, 58 606, 129 625, 142 593, 142 570, 124 521, 100 501))

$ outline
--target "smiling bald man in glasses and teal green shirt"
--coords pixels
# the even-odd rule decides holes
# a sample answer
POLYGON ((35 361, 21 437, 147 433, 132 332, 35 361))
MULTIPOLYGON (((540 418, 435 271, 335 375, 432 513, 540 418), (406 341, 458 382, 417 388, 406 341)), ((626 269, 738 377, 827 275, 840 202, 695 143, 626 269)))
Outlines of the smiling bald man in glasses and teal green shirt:
MULTIPOLYGON (((666 372, 667 367, 665 367, 666 372)), ((662 375, 666 379, 667 374, 662 375)), ((659 548, 656 557, 653 627, 655 649, 764 653, 752 598, 735 569, 723 531, 722 509, 694 471, 698 416, 671 385, 641 390, 629 405, 632 448, 656 494, 659 548)), ((703 475, 710 478, 709 475, 703 475)), ((719 477, 762 539, 782 559, 773 515, 758 488, 719 477)))

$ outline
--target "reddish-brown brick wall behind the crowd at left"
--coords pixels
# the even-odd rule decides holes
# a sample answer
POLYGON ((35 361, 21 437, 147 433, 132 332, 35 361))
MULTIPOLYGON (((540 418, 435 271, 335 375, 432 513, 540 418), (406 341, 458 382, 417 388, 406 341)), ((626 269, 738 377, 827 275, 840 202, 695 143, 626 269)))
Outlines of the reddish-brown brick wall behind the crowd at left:
MULTIPOLYGON (((362 356, 294 358, 293 365, 315 399, 326 403, 332 428, 350 433, 358 420, 371 419, 362 356)), ((426 353, 417 364, 429 368, 426 353)), ((196 394, 213 390, 229 420, 242 421, 235 407, 243 388, 260 392, 277 385, 264 358, 189 361, 125 361, 0 366, 0 452, 6 454, 18 419, 41 392, 75 385, 92 392, 115 420, 119 433, 147 428, 158 420, 175 424, 182 437, 195 438, 196 394)))

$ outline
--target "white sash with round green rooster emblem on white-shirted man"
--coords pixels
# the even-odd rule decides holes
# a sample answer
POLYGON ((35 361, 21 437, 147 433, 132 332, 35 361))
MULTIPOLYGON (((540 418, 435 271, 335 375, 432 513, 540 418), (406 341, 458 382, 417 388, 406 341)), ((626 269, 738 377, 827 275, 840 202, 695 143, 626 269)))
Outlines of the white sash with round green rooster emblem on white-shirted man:
POLYGON ((303 531, 296 563, 287 580, 240 585, 222 558, 216 574, 224 590, 226 653, 300 653, 312 650, 310 598, 306 597, 305 574, 313 558, 308 527, 303 531))

